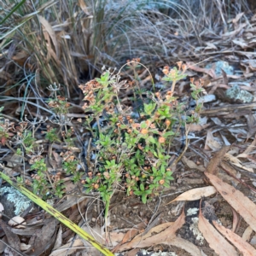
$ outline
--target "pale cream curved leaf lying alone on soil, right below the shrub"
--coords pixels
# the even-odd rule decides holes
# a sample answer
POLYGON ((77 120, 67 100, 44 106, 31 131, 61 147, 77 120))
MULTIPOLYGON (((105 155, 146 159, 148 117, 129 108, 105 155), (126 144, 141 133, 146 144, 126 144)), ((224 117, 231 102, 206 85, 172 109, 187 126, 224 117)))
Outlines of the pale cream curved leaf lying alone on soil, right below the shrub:
POLYGON ((213 186, 207 186, 203 188, 190 189, 181 195, 178 195, 174 200, 168 202, 166 205, 171 204, 173 201, 195 201, 202 197, 207 197, 215 194, 217 191, 213 186))

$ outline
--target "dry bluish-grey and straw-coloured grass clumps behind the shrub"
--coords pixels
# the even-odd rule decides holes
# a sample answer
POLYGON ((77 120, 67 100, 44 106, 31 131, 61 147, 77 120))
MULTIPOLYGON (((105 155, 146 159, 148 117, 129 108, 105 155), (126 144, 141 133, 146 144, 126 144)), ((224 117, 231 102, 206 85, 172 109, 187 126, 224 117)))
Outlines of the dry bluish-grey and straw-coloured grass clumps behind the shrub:
POLYGON ((103 65, 120 67, 134 56, 147 67, 152 61, 170 65, 184 52, 193 57, 203 35, 218 37, 229 29, 230 16, 247 9, 245 0, 2 0, 1 6, 5 94, 17 95, 26 83, 38 98, 53 83, 64 84, 71 98, 103 65))

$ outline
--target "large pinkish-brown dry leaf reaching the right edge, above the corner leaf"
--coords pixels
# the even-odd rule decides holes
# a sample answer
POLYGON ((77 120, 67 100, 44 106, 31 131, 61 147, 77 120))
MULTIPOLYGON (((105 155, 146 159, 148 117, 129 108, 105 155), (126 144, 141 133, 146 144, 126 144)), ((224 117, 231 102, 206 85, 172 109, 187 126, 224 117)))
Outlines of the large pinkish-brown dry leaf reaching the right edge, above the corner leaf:
POLYGON ((215 189, 224 197, 224 200, 256 231, 256 206, 253 201, 250 201, 247 196, 228 183, 224 183, 217 176, 208 172, 205 172, 205 175, 210 179, 215 189))

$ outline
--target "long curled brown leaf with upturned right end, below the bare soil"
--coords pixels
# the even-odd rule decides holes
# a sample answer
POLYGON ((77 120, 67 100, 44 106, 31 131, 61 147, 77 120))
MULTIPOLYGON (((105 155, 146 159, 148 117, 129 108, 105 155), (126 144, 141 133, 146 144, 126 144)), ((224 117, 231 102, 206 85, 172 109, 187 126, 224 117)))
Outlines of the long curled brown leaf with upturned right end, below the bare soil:
MULTIPOLYGON (((164 241, 169 241, 172 237, 175 237, 175 233, 178 229, 180 229, 185 223, 185 214, 182 214, 177 218, 177 220, 166 230, 163 230, 159 234, 154 236, 147 237, 144 239, 143 236, 136 236, 130 242, 127 242, 119 247, 119 251, 129 250, 131 248, 143 248, 143 247, 151 247, 156 244, 163 243, 164 241)), ((154 227, 155 229, 156 227, 154 227)), ((150 230, 149 230, 150 232, 150 230)))

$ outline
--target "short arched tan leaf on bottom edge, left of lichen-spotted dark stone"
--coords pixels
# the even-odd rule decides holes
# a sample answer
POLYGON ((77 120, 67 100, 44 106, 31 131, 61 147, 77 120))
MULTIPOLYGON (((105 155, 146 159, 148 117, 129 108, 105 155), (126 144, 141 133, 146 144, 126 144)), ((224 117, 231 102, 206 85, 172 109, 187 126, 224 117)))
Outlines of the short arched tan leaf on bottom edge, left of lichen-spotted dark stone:
POLYGON ((164 241, 163 243, 169 246, 171 245, 171 246, 182 248, 186 252, 190 253, 192 256, 202 256, 200 249, 196 247, 195 244, 181 237, 175 236, 175 237, 172 237, 171 240, 164 241))

